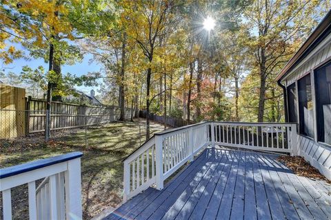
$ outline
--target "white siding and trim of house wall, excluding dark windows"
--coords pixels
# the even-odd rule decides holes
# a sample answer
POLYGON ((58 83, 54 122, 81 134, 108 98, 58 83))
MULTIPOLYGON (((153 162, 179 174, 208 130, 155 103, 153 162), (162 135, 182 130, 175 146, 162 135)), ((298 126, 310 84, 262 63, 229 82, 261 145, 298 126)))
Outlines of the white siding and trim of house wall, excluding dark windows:
MULTIPOLYGON (((300 134, 298 135, 297 145, 299 146, 299 155, 304 157, 305 160, 317 168, 321 174, 331 180, 331 146, 317 141, 318 125, 316 122, 316 106, 314 103, 315 100, 318 99, 318 97, 314 97, 314 70, 329 61, 331 61, 331 34, 328 34, 307 57, 298 63, 297 66, 287 74, 287 77, 284 77, 282 83, 285 86, 290 86, 306 74, 311 74, 312 101, 314 105, 314 139, 300 134)), ((297 84, 296 88, 298 89, 297 84)))

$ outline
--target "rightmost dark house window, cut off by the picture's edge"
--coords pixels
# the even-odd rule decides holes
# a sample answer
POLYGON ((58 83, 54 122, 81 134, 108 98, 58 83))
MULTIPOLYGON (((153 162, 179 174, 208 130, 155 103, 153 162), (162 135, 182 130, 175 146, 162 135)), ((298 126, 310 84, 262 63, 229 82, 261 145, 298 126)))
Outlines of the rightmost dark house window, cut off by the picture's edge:
POLYGON ((331 63, 314 71, 317 140, 331 144, 331 63))

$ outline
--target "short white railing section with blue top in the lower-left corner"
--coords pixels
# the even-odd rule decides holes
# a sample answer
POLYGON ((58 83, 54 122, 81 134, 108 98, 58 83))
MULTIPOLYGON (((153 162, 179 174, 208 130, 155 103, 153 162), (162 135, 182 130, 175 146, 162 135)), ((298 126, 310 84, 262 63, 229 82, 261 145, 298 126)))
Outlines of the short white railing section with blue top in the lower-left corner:
POLYGON ((30 219, 82 219, 81 156, 72 152, 1 169, 3 219, 12 219, 12 188, 24 184, 30 219))

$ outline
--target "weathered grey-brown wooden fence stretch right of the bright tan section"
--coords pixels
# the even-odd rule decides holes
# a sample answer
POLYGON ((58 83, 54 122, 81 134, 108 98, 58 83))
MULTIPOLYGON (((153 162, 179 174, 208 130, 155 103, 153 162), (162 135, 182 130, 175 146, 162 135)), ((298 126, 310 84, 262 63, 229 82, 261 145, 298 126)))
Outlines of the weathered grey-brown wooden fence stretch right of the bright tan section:
MULTIPOLYGON (((50 130, 91 126, 117 121, 120 109, 117 106, 86 106, 53 101, 50 112, 50 130)), ((28 99, 29 132, 43 132, 46 124, 46 101, 28 99)), ((131 109, 126 108, 125 118, 130 119, 131 109)))

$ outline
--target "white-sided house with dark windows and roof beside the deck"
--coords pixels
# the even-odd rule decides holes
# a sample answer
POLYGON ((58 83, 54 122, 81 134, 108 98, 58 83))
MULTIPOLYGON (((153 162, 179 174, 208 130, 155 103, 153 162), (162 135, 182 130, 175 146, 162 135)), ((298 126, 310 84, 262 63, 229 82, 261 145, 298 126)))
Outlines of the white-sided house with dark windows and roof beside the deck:
POLYGON ((330 179, 331 11, 277 76, 285 118, 299 125, 301 155, 330 179))

